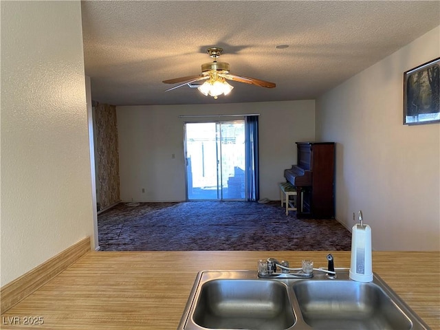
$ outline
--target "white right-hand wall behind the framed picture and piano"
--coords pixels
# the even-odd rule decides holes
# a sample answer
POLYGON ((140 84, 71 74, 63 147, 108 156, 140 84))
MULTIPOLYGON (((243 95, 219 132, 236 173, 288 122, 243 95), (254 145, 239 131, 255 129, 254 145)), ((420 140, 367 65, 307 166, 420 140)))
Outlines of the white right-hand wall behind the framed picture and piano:
POLYGON ((440 56, 437 27, 316 102, 337 142, 336 218, 362 209, 375 250, 440 250, 440 124, 403 125, 403 73, 440 56))

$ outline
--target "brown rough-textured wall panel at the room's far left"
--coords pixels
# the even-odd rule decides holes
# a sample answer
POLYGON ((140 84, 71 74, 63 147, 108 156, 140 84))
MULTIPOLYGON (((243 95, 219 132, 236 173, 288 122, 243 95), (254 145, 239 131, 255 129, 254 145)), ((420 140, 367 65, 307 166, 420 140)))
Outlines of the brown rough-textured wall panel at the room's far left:
POLYGON ((120 201, 118 124, 116 107, 98 104, 95 107, 97 201, 100 210, 120 201))

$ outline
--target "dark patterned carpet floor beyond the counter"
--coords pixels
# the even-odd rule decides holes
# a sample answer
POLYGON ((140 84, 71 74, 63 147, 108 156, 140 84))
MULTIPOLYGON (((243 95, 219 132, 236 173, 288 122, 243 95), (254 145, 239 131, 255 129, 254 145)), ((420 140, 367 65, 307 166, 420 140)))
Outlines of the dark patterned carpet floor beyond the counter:
POLYGON ((103 251, 351 250, 334 219, 296 219, 279 201, 120 203, 98 215, 103 251))

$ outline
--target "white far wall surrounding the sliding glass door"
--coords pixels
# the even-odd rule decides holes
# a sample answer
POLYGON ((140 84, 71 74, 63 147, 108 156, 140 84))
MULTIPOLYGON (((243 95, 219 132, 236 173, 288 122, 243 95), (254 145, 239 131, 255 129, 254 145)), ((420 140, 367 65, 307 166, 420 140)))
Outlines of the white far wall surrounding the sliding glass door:
POLYGON ((314 100, 126 106, 116 110, 122 201, 185 200, 184 122, 227 118, 179 115, 260 113, 261 198, 280 199, 278 182, 285 181, 285 168, 296 164, 295 142, 315 137, 314 100))

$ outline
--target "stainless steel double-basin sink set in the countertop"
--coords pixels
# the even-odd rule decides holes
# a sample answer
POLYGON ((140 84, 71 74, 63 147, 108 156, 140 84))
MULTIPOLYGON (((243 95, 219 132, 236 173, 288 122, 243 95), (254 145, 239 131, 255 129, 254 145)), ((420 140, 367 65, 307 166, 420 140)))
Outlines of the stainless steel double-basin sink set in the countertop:
POLYGON ((430 329, 384 281, 258 278, 252 271, 203 271, 177 330, 430 329))

